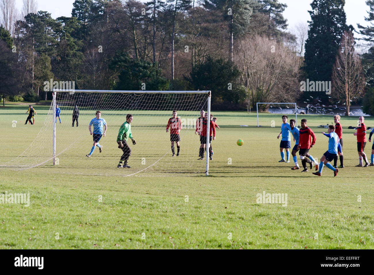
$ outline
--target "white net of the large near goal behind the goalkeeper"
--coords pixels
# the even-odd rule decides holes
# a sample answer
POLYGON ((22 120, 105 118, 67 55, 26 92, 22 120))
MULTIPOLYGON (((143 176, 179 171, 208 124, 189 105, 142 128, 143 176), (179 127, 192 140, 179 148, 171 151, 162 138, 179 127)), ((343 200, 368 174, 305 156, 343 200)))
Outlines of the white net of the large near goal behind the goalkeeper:
MULTIPOLYGON (((200 111, 210 112, 210 91, 57 90, 55 98, 55 104, 61 109, 61 123, 59 118, 55 119, 52 102, 44 124, 30 146, 1 166, 17 169, 40 166, 50 171, 86 175, 207 174, 209 161, 197 160, 200 138, 195 135, 195 129, 200 111), (76 122, 74 126, 72 122, 74 106, 79 109, 78 127, 76 122), (166 132, 173 110, 177 110, 182 126, 180 155, 175 157, 172 157, 170 128, 166 132), (88 126, 96 111, 101 111, 107 132, 99 141, 102 152, 95 147, 88 158, 86 155, 93 146, 88 126), (132 150, 128 160, 131 168, 117 168, 123 152, 116 139, 120 126, 126 121, 126 114, 133 115, 131 131, 136 144, 128 139, 132 150)), ((177 154, 177 146, 174 146, 177 154)))

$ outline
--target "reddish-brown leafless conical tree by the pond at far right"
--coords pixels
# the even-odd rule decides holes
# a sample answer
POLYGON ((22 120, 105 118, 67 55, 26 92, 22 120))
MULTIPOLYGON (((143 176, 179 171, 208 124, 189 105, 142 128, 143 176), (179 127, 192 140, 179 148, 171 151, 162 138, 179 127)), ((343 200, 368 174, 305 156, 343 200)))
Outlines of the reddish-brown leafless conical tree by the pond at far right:
POLYGON ((350 102, 364 96, 365 83, 361 58, 355 52, 353 34, 351 31, 345 31, 332 70, 331 96, 345 101, 346 116, 349 116, 350 102))

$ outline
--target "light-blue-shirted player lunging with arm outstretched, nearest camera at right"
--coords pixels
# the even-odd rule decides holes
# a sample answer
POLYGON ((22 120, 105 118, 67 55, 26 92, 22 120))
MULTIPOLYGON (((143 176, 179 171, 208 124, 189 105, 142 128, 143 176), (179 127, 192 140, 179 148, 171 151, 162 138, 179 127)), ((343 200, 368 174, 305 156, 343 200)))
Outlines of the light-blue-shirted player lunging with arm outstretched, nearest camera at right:
POLYGON ((324 134, 326 137, 329 138, 328 139, 328 150, 321 157, 321 162, 319 164, 318 172, 314 172, 313 174, 317 175, 317 176, 320 176, 321 173, 322 173, 322 169, 324 168, 324 165, 326 165, 327 168, 334 171, 334 177, 336 177, 336 175, 339 172, 339 169, 335 168, 335 167, 332 167, 332 165, 329 164, 328 162, 332 161, 335 158, 335 156, 337 156, 338 153, 339 153, 339 155, 340 154, 343 155, 343 153, 341 153, 341 144, 339 142, 340 138, 335 133, 335 126, 334 125, 329 125, 327 132, 328 132, 328 134, 326 134, 325 132, 322 132, 322 134, 324 134))

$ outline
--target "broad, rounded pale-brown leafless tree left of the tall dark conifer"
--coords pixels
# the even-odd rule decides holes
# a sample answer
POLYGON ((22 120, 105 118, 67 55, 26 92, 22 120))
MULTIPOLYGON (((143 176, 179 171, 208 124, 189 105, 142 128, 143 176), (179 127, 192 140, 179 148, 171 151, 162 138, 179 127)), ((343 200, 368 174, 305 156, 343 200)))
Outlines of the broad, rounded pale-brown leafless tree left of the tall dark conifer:
POLYGON ((242 39, 234 56, 252 106, 291 100, 300 93, 298 58, 283 43, 261 36, 242 39))

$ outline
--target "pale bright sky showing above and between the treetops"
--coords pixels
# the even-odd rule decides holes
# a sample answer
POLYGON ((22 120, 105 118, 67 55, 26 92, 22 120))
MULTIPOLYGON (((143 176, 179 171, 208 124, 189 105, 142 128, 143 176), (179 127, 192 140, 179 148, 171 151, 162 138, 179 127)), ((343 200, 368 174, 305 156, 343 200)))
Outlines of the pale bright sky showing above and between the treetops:
MULTIPOLYGON (((144 2, 144 0, 142 0, 144 2)), ((287 4, 283 16, 288 20, 288 27, 294 28, 298 22, 307 22, 310 20, 308 10, 311 9, 312 0, 280 0, 281 3, 287 4)), ((52 14, 53 18, 59 16, 71 16, 74 0, 37 0, 38 10, 44 10, 52 14)), ((16 0, 18 10, 22 9, 22 0, 16 0)), ((357 30, 357 24, 366 26, 367 22, 364 17, 367 16, 368 6, 365 0, 346 0, 344 10, 347 15, 347 24, 353 25, 357 30)), ((359 37, 355 34, 355 37, 359 37)))

